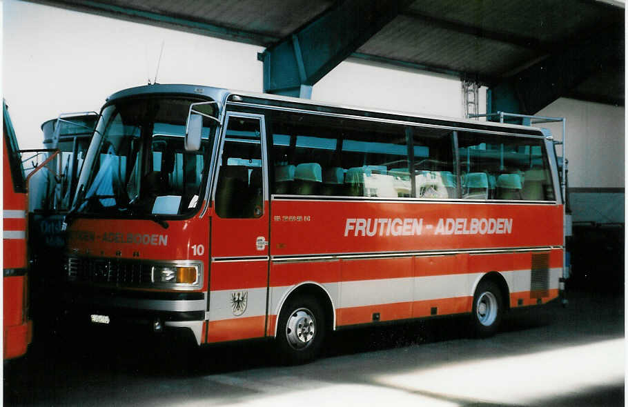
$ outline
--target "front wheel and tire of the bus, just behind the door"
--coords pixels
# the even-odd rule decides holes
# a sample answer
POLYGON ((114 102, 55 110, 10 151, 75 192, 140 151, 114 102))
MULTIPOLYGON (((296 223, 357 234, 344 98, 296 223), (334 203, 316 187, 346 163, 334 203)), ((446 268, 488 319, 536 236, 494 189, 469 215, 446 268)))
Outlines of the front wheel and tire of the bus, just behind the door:
POLYGON ((283 364, 304 364, 315 359, 326 337, 325 313, 314 297, 286 301, 277 321, 277 351, 283 364))

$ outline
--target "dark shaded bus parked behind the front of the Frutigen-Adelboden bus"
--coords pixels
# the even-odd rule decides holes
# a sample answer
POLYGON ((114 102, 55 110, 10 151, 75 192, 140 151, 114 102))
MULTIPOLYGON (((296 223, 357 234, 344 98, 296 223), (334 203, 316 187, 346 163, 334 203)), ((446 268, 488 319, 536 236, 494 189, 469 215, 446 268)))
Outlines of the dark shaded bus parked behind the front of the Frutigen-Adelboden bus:
POLYGON ((28 247, 30 264, 30 315, 39 333, 48 335, 57 320, 55 308, 63 272, 66 235, 61 230, 70 210, 78 175, 98 119, 96 112, 62 113, 41 124, 43 150, 23 155, 25 171, 50 159, 46 171, 28 182, 28 247), (57 152, 58 151, 58 152, 57 152))

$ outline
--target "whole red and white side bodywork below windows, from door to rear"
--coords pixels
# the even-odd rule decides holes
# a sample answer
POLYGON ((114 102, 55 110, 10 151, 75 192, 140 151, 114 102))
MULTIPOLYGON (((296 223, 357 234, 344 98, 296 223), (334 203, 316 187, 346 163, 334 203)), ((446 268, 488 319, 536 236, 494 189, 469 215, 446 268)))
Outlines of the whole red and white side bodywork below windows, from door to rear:
POLYGON ((471 312, 489 272, 504 277, 511 306, 558 296, 562 249, 550 247, 562 243, 560 206, 277 199, 273 214, 271 255, 294 263, 271 266, 271 290, 338 281, 337 326, 471 312), (317 255, 340 256, 339 279, 317 255))

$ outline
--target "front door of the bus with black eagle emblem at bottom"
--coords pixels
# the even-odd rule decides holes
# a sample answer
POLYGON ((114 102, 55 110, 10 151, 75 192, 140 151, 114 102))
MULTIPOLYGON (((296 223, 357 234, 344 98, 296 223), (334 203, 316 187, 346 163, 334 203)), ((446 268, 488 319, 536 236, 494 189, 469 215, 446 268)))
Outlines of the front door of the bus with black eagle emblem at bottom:
POLYGON ((211 219, 208 342, 263 337, 268 289, 264 117, 228 112, 211 219))

